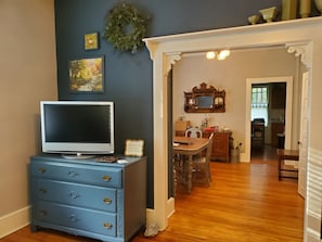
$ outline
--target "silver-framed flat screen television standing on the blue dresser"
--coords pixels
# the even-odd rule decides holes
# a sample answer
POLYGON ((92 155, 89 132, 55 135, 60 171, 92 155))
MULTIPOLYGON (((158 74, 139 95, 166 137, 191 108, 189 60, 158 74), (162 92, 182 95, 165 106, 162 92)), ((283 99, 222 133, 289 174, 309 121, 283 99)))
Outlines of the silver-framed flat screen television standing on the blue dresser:
POLYGON ((114 153, 114 103, 41 101, 41 144, 44 153, 88 158, 114 153))

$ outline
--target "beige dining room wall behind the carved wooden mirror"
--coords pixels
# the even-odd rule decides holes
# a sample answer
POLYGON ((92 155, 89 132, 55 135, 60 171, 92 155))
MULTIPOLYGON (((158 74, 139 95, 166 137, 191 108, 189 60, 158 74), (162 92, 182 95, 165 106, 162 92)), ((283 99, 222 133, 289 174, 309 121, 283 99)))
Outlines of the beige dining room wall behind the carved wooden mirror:
POLYGON ((206 114, 185 113, 183 91, 206 82, 226 90, 226 113, 207 114, 209 126, 228 127, 235 140, 245 143, 246 78, 295 77, 297 62, 286 48, 236 50, 224 61, 207 60, 201 54, 185 55, 173 66, 173 120, 184 116, 193 126, 201 125, 206 114))

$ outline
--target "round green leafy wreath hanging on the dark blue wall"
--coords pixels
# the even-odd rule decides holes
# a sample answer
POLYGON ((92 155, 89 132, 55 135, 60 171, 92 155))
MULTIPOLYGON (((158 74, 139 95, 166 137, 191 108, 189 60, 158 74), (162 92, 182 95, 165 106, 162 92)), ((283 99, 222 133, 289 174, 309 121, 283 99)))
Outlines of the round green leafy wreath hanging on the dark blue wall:
POLYGON ((147 18, 143 17, 134 7, 126 3, 117 4, 110 11, 103 38, 119 51, 136 53, 143 47, 146 22, 147 18))

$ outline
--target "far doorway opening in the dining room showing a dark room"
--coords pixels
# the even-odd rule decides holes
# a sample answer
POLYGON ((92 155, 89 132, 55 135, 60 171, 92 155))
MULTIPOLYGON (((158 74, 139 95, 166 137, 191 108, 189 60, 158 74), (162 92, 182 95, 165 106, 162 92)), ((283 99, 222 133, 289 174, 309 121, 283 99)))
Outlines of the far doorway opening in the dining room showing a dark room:
POLYGON ((285 143, 286 82, 263 82, 252 85, 250 104, 250 161, 269 161, 275 149, 285 143))

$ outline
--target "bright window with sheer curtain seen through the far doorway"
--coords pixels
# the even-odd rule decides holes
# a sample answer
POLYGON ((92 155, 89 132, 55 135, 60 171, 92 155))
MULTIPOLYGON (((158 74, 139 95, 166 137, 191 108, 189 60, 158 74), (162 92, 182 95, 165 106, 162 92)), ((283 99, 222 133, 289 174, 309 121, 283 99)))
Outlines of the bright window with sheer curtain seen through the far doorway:
POLYGON ((252 120, 254 118, 263 118, 265 126, 268 125, 268 86, 252 87, 252 120))

